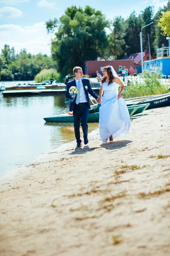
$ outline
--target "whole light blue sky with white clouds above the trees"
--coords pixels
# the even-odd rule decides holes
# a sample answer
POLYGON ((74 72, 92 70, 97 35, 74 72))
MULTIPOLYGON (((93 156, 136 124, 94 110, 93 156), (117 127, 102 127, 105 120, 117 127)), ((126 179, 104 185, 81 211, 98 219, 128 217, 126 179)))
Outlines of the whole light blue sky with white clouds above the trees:
POLYGON ((0 51, 4 44, 9 44, 16 52, 26 48, 32 54, 50 55, 52 35, 47 34, 45 22, 61 17, 72 5, 89 5, 112 20, 119 15, 127 18, 133 10, 139 13, 147 6, 154 6, 157 11, 166 4, 164 0, 86 0, 82 3, 71 0, 0 0, 0 51))

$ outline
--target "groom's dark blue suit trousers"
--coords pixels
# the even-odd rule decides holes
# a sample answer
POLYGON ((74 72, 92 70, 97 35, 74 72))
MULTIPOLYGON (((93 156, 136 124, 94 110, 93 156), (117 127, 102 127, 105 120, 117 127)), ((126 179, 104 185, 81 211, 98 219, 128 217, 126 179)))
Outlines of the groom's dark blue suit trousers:
POLYGON ((88 125, 87 125, 87 119, 89 114, 89 105, 88 103, 84 103, 82 105, 77 105, 75 103, 73 108, 73 118, 74 118, 74 129, 75 129, 75 138, 77 143, 81 143, 80 139, 80 122, 81 127, 83 130, 83 137, 84 140, 87 139, 88 135, 88 125))

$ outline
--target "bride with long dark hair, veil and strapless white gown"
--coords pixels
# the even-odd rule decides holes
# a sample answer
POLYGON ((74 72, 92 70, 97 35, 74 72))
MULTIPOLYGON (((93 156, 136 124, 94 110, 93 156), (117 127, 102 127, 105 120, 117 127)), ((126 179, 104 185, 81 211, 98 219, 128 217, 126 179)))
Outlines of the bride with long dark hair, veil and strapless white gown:
POLYGON ((113 142, 113 138, 122 137, 130 128, 130 116, 126 102, 121 98, 124 85, 118 78, 112 66, 103 68, 101 88, 98 103, 99 108, 99 134, 102 142, 113 142), (121 87, 118 93, 118 86, 121 87), (101 99, 104 93, 103 98, 101 99))

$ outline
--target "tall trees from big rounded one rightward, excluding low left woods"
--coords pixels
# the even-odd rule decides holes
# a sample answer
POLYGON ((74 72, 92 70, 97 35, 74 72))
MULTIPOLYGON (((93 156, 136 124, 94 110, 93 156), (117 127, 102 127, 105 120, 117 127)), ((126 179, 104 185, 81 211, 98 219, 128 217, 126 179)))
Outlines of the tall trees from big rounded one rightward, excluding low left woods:
POLYGON ((55 34, 51 49, 57 69, 63 74, 72 73, 73 66, 84 67, 85 61, 97 57, 115 60, 141 52, 141 27, 151 22, 154 23, 142 30, 143 49, 148 49, 149 34, 151 55, 156 57, 156 47, 168 44, 158 22, 163 12, 169 10, 169 5, 170 0, 156 13, 153 6, 148 6, 138 15, 133 11, 127 19, 115 16, 111 21, 90 6, 67 8, 59 20, 46 22, 47 31, 55 34), (106 28, 109 28, 109 34, 106 28))

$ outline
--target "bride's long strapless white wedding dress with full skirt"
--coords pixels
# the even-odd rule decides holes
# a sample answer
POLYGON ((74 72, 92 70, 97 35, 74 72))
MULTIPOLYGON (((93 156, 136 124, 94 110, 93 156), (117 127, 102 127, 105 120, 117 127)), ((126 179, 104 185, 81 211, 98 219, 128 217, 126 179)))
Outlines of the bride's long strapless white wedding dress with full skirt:
POLYGON ((99 108, 99 134, 104 142, 111 135, 114 138, 127 134, 130 128, 130 116, 124 99, 118 99, 118 84, 102 84, 104 96, 99 108))

